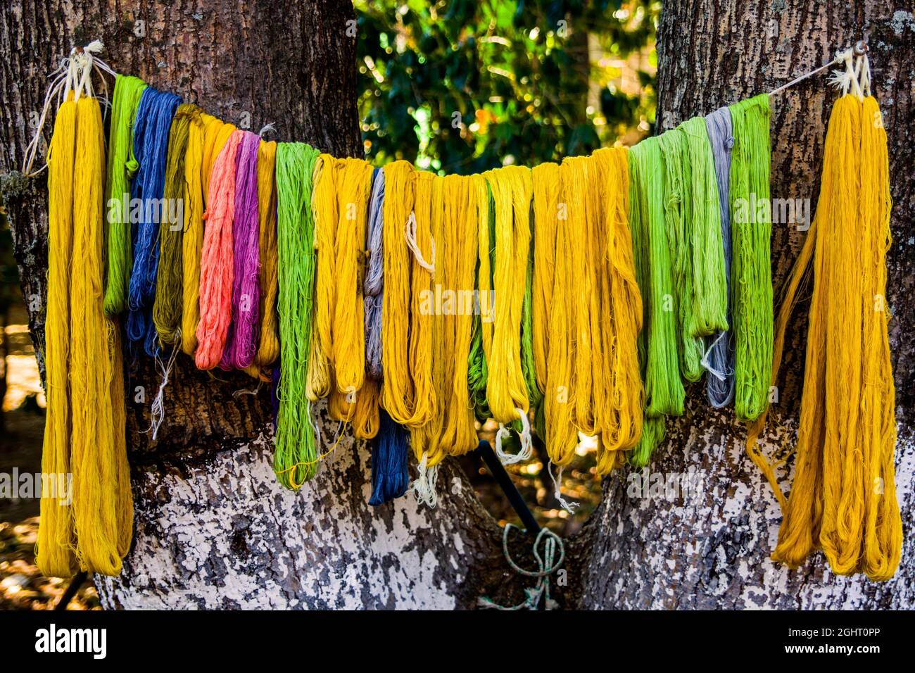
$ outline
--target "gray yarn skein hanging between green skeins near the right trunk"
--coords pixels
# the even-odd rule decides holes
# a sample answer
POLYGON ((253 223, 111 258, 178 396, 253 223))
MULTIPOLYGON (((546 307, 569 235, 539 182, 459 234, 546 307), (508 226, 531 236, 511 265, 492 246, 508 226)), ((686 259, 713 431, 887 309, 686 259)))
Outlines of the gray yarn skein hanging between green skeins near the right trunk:
MULTIPOLYGON (((715 174, 718 183, 718 201, 721 204, 721 240, 725 248, 725 275, 727 277, 727 322, 731 322, 731 221, 730 221, 730 172, 731 147, 734 147, 734 132, 731 113, 727 107, 718 108, 705 117, 708 139, 715 156, 715 174)), ((705 337, 705 361, 708 374, 705 376, 705 392, 708 402, 715 408, 727 407, 734 399, 734 333, 719 331, 705 337)))

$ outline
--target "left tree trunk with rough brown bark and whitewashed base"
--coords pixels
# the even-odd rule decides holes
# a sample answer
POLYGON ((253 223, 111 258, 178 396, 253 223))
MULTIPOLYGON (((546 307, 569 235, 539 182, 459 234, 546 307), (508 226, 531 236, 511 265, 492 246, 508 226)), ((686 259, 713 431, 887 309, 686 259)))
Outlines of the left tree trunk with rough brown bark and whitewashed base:
MULTIPOLYGON (((100 38, 116 71, 236 125, 256 131, 273 123, 280 140, 361 156, 351 5, 145 6, 132 14, 114 2, 19 0, 0 14, 0 172, 9 175, 4 201, 38 353, 48 259, 45 180, 24 180, 15 171, 46 75, 73 44, 100 38)), ((451 608, 472 606, 484 593, 521 596, 502 559, 498 526, 454 467, 440 475, 448 494, 436 509, 418 508, 412 496, 372 508, 369 453, 348 432, 318 476, 292 494, 272 469, 267 386, 244 394, 256 387, 244 374, 210 376, 181 355, 154 441, 145 430, 157 375, 142 356, 128 375, 135 546, 120 577, 96 577, 105 607, 451 608), (138 387, 143 402, 134 401, 138 387)), ((337 431, 325 418, 322 436, 337 431)))

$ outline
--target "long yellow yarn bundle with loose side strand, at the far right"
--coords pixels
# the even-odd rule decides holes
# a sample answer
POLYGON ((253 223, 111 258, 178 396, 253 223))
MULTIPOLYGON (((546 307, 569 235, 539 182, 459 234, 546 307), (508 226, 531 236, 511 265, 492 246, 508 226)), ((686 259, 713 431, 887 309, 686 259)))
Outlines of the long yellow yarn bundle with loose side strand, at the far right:
POLYGON ((902 547, 886 300, 891 199, 879 106, 869 95, 860 97, 846 94, 834 104, 816 214, 782 294, 776 325, 772 385, 792 310, 813 266, 801 418, 787 501, 774 470, 791 450, 770 461, 757 446, 765 413, 748 429, 747 452, 783 514, 772 559, 794 568, 822 548, 835 573, 863 572, 885 581, 899 567, 902 547))

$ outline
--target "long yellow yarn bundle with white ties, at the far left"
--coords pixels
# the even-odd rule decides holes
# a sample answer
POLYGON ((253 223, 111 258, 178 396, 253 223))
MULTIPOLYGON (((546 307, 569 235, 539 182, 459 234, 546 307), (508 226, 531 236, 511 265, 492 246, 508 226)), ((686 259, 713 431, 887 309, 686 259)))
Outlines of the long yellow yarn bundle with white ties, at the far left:
POLYGON ((37 562, 59 577, 117 574, 133 536, 120 330, 103 308, 105 139, 91 73, 90 56, 75 94, 68 85, 48 151, 42 470, 71 474, 72 488, 70 503, 63 483, 42 489, 37 562))

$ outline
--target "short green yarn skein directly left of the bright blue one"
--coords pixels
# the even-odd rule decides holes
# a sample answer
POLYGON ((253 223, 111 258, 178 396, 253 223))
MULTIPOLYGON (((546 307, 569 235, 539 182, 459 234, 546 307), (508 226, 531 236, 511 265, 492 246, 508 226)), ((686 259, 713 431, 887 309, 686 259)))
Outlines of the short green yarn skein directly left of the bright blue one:
POLYGON ((132 132, 136 108, 145 91, 145 81, 118 75, 114 79, 111 130, 108 135, 108 257, 105 276, 105 313, 110 316, 127 309, 127 286, 134 266, 130 225, 130 180, 138 164, 132 132), (125 202, 127 207, 125 208, 125 202))

